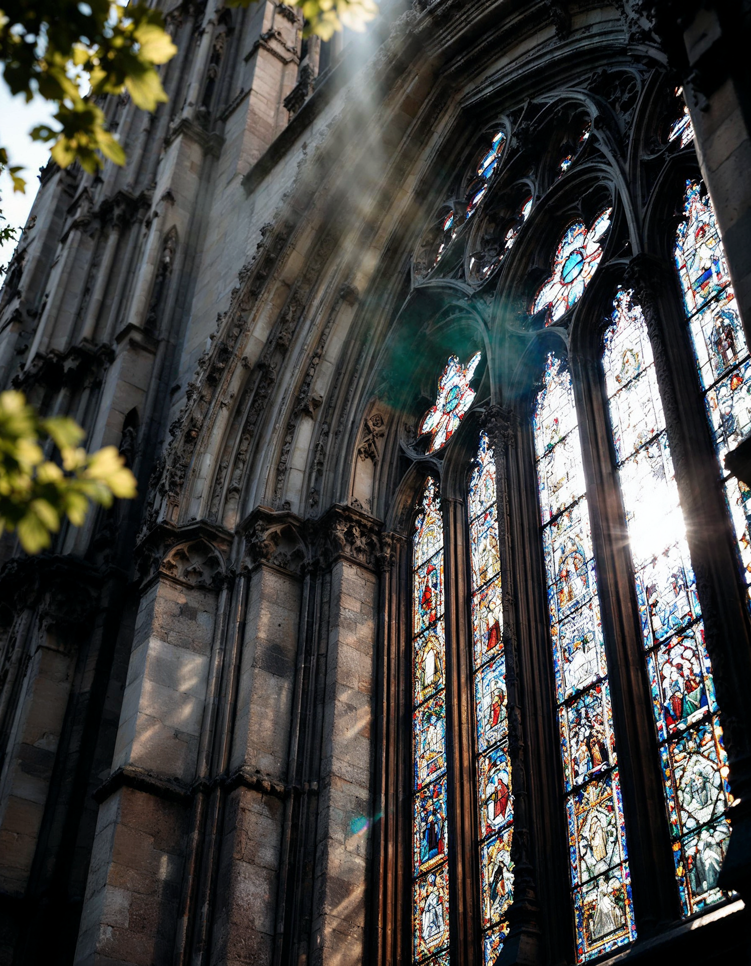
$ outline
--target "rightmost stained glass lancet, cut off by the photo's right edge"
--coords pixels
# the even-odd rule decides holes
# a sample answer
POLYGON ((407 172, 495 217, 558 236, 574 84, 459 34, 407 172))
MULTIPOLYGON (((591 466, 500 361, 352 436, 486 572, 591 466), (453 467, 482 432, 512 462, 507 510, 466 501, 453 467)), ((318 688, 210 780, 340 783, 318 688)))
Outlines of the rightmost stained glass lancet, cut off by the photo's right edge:
POLYGON ((676 266, 743 579, 749 586, 751 490, 726 472, 724 460, 751 430, 751 358, 709 195, 698 182, 685 183, 683 213, 685 220, 676 236, 676 266))

